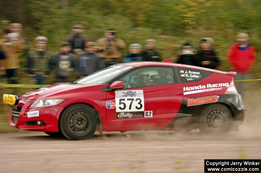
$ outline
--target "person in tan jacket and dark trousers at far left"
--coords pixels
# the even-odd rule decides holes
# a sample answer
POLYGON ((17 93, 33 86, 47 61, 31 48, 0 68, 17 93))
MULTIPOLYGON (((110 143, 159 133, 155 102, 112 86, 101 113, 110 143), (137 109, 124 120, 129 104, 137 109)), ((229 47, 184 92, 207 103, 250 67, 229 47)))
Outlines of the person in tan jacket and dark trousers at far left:
POLYGON ((5 54, 3 68, 6 70, 7 83, 17 83, 17 69, 19 67, 19 59, 17 52, 24 50, 24 41, 20 37, 10 34, 9 29, 4 29, 3 39, 0 40, 0 49, 5 54))

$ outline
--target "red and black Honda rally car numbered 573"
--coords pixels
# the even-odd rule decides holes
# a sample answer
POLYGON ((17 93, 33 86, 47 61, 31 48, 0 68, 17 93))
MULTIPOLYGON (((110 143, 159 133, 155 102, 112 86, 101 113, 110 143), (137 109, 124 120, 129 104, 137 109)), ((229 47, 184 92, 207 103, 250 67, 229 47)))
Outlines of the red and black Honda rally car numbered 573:
POLYGON ((10 126, 71 140, 90 138, 95 130, 238 130, 245 108, 236 72, 167 61, 117 64, 19 98, 6 94, 10 126))

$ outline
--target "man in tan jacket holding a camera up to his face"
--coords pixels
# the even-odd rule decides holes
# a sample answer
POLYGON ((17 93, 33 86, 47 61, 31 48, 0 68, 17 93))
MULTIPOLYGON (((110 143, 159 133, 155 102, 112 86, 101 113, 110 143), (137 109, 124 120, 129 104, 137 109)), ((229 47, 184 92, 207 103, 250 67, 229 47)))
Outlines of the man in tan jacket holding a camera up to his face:
POLYGON ((116 38, 116 31, 113 28, 107 29, 105 36, 98 39, 96 43, 98 44, 97 51, 105 61, 106 67, 117 64, 121 58, 120 50, 126 47, 123 40, 116 38))

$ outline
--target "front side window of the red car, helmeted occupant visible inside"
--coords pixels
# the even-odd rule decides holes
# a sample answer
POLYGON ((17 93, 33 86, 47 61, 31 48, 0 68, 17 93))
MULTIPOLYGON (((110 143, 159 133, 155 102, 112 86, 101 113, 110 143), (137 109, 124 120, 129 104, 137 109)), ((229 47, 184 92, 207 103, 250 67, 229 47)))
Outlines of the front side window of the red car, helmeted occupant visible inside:
POLYGON ((145 67, 130 72, 119 81, 123 81, 124 88, 167 85, 174 83, 174 73, 171 67, 145 67))

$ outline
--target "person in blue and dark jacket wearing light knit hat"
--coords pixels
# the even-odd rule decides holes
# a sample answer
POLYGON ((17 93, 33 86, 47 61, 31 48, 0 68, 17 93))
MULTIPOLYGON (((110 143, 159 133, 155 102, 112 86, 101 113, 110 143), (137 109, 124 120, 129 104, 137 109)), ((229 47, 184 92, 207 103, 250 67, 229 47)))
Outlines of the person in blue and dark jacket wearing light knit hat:
POLYGON ((141 54, 142 46, 140 44, 130 44, 129 53, 125 54, 123 62, 145 61, 141 54))

